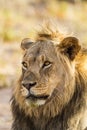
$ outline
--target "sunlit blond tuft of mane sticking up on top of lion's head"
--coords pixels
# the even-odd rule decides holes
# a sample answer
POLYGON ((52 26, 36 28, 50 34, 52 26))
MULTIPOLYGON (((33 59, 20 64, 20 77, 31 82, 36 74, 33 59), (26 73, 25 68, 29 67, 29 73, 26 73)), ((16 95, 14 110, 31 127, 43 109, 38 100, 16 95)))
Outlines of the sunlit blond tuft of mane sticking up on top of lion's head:
POLYGON ((48 21, 44 22, 43 25, 40 26, 40 29, 37 31, 36 40, 37 41, 51 40, 59 43, 66 36, 68 35, 59 31, 57 26, 48 21))

